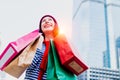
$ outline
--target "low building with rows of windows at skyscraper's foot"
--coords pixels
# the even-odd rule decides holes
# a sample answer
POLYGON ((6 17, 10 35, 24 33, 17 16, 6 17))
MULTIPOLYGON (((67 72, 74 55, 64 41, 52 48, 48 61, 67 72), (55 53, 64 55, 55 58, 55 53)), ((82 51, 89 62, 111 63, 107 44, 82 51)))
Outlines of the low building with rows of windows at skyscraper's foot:
POLYGON ((78 76, 78 80, 120 80, 120 70, 90 67, 89 70, 78 76))

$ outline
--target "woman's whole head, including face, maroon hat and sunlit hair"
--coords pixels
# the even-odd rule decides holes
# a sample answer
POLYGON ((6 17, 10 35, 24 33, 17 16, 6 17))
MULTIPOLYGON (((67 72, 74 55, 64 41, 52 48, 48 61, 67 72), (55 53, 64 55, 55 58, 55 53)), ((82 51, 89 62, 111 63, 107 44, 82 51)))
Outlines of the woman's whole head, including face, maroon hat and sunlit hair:
POLYGON ((51 15, 44 15, 39 22, 39 32, 44 38, 47 35, 55 37, 59 33, 59 28, 56 19, 51 15))

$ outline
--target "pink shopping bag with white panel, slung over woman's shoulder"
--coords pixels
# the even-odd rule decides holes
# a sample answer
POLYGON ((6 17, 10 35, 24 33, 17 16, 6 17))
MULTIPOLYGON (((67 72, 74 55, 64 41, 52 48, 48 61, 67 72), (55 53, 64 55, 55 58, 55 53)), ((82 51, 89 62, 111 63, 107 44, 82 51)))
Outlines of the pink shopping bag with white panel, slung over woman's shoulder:
POLYGON ((38 29, 34 30, 16 41, 10 42, 0 55, 0 70, 3 70, 19 53, 32 41, 40 36, 38 29))

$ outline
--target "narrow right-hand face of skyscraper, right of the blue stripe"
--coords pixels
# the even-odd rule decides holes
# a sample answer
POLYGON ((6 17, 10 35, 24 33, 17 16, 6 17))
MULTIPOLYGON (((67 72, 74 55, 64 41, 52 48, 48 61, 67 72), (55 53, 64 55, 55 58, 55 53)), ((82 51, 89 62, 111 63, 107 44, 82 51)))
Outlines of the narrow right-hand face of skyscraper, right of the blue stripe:
MULTIPOLYGON (((110 68, 119 68, 119 45, 118 38, 120 37, 120 1, 119 0, 105 0, 107 6, 107 21, 108 21, 108 36, 109 36, 109 53, 110 68), (117 41, 117 42, 116 42, 117 41)), ((104 63, 105 64, 105 63, 104 63)))

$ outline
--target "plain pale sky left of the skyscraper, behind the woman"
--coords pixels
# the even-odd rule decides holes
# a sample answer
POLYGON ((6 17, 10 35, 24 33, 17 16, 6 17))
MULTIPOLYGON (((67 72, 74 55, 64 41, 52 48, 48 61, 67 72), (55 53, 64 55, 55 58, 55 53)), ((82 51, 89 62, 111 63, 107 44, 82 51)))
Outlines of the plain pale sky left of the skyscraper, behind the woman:
MULTIPOLYGON (((43 15, 52 15, 67 37, 71 36, 72 0, 0 0, 0 53, 7 44, 38 29, 43 15), (66 12, 67 11, 67 12, 66 12)), ((15 79, 9 75, 5 80, 15 79)))

